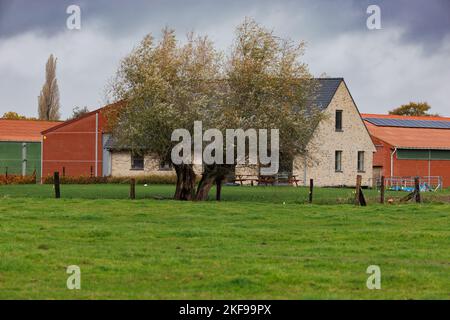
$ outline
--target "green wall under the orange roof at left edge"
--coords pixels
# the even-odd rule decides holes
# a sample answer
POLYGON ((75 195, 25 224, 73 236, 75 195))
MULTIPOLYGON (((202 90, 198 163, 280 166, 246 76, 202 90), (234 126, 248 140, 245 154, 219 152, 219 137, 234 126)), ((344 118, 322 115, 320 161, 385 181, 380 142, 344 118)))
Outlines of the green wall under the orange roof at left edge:
MULTIPOLYGON (((0 175, 22 175, 22 142, 0 141, 0 175)), ((26 142, 26 174, 32 175, 36 170, 36 176, 41 176, 41 143, 26 142)))

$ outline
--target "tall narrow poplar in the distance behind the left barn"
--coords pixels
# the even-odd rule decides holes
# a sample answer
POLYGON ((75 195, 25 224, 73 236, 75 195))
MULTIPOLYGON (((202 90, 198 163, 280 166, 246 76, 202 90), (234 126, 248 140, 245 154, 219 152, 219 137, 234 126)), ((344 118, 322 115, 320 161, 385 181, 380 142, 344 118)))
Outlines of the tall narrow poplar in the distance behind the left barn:
POLYGON ((59 120, 59 88, 56 79, 56 58, 53 54, 45 66, 45 83, 38 97, 38 114, 40 120, 59 120))

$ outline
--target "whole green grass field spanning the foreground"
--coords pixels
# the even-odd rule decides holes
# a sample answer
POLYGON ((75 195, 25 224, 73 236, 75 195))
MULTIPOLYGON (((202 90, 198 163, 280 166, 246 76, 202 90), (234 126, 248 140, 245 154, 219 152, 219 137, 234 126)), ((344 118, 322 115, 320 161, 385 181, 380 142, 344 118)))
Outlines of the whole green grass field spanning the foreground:
POLYGON ((367 190, 367 208, 330 205, 349 189, 316 189, 317 205, 303 188, 225 187, 220 203, 172 192, 0 186, 0 298, 450 299, 448 191, 382 206, 367 190), (69 265, 81 290, 66 288, 69 265), (369 265, 381 290, 366 288, 369 265))

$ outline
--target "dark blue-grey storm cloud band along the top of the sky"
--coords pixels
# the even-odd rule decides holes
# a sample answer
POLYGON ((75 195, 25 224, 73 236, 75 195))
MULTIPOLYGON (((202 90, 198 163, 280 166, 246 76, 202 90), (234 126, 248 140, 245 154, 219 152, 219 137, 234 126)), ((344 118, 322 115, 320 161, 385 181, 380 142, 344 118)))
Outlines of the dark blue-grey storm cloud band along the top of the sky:
POLYGON ((263 17, 285 11, 290 12, 291 18, 286 23, 299 28, 294 31, 301 33, 310 25, 307 36, 333 37, 342 32, 364 31, 366 8, 370 4, 381 7, 383 29, 393 26, 404 29, 404 41, 434 46, 450 34, 448 0, 291 0, 280 3, 261 0, 0 0, 0 37, 30 30, 48 35, 61 32, 67 18, 65 10, 70 4, 80 5, 83 23, 99 22, 114 34, 133 32, 149 23, 182 30, 205 30, 236 14, 263 17), (304 12, 309 14, 302 15, 304 12), (296 21, 296 13, 302 21, 296 21))

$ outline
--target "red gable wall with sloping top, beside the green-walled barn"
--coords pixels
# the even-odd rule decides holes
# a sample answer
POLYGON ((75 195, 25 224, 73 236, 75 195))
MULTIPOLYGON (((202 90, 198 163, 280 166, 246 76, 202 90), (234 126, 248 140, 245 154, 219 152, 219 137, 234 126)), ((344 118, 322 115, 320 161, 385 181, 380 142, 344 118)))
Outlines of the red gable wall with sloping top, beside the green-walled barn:
MULTIPOLYGON (((66 176, 95 176, 95 118, 92 113, 81 119, 67 122, 43 137, 42 176, 59 171, 66 176)), ((102 175, 102 128, 105 120, 99 113, 98 176, 102 175)))

